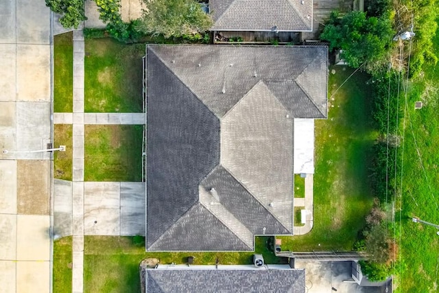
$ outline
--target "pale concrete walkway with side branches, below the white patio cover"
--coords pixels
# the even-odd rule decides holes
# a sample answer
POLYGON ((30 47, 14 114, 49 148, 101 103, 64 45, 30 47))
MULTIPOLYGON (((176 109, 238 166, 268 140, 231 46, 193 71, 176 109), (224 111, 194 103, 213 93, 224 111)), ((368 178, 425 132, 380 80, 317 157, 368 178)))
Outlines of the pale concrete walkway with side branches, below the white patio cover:
POLYGON ((294 198, 294 207, 303 207, 307 211, 307 220, 304 226, 294 226, 294 235, 304 235, 309 233, 314 224, 314 198, 313 198, 313 174, 305 177, 305 198, 294 198))

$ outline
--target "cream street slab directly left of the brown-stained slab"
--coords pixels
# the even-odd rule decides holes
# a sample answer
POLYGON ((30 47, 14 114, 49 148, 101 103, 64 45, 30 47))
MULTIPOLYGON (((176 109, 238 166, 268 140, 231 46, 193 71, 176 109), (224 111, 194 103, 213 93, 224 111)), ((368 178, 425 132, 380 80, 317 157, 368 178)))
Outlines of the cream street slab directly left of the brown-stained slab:
POLYGON ((0 160, 0 213, 16 213, 16 161, 14 160, 0 160))

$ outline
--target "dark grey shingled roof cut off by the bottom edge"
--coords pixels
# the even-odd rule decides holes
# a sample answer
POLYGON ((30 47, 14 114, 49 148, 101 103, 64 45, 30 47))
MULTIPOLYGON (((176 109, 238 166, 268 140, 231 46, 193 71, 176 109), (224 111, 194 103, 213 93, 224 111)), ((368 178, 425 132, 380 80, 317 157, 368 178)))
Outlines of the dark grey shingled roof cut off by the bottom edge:
POLYGON ((305 270, 234 267, 147 269, 146 292, 305 292, 305 270))

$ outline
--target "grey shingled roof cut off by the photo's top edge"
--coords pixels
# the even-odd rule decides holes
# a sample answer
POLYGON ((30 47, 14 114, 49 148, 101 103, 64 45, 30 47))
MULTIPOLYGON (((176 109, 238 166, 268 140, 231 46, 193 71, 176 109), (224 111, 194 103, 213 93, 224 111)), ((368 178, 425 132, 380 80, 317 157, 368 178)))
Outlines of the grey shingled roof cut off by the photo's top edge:
POLYGON ((210 0, 211 30, 312 31, 312 0, 210 0))

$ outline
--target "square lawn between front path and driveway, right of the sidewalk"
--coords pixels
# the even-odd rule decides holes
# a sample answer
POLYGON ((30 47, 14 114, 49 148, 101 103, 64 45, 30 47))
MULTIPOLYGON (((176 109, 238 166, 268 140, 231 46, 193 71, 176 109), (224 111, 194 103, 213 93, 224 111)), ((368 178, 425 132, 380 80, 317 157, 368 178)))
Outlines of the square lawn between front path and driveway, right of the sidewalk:
POLYGON ((86 125, 86 181, 141 181, 143 126, 86 125))

